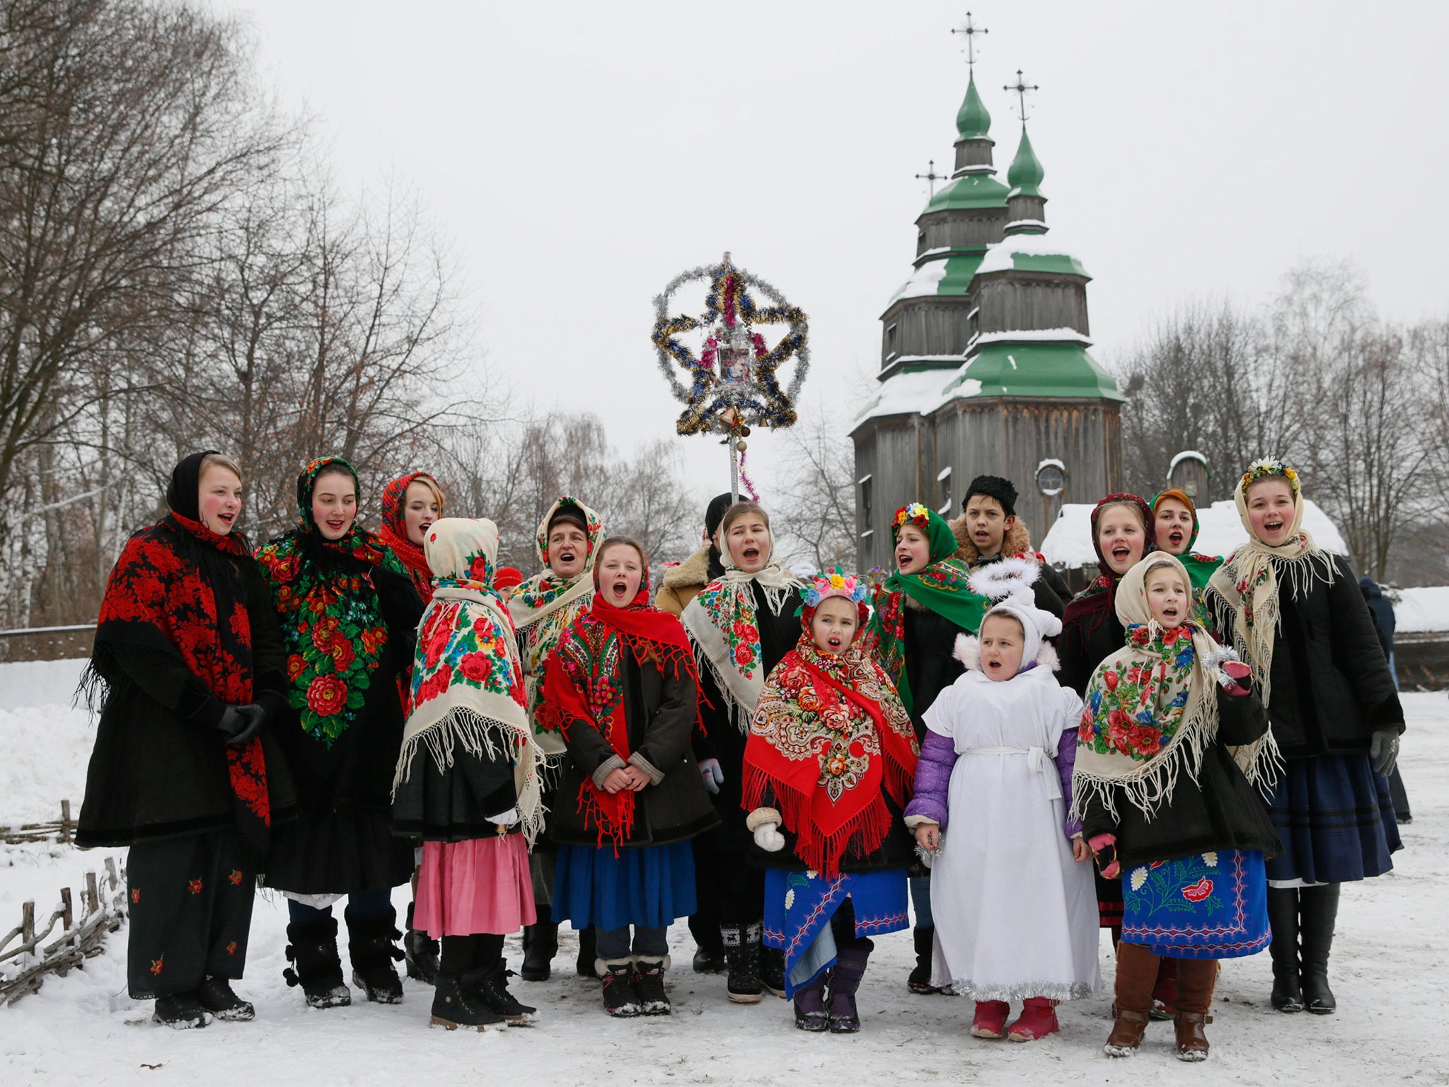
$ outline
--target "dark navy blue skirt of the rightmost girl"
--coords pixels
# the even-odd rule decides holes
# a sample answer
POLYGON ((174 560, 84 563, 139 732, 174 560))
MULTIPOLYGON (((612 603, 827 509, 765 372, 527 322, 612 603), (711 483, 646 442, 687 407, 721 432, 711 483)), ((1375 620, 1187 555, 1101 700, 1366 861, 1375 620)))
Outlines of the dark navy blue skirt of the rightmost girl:
POLYGON ((1282 841, 1282 857, 1268 861, 1269 880, 1350 883, 1382 875, 1403 848, 1388 778, 1368 755, 1290 758, 1268 817, 1282 841))

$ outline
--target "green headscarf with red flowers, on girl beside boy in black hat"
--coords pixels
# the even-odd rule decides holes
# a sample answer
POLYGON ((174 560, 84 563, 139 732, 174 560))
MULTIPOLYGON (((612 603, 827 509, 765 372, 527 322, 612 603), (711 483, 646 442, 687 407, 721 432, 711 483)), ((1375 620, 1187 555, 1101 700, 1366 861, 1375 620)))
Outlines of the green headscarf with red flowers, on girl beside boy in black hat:
POLYGON ((904 597, 929 607, 964 630, 975 633, 991 601, 977 596, 966 586, 971 571, 956 558, 956 533, 945 517, 919 501, 901 506, 891 522, 891 538, 900 536, 906 525, 926 532, 930 558, 917 574, 895 571, 875 594, 875 613, 867 628, 867 648, 871 649, 885 674, 900 691, 906 712, 914 715, 914 699, 906 678, 906 613, 904 597))

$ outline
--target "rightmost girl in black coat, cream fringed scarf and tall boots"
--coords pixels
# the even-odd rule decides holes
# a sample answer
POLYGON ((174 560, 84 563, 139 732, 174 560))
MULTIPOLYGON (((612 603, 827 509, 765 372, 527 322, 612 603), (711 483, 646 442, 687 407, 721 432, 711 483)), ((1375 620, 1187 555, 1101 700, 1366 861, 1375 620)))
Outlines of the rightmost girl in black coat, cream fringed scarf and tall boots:
POLYGON ((1297 472, 1255 461, 1235 493, 1248 544, 1213 574, 1207 604, 1262 691, 1284 774, 1268 813, 1272 1004, 1329 1015, 1339 884, 1381 875, 1401 848, 1387 774, 1404 712, 1374 619, 1342 555, 1303 530, 1297 472))

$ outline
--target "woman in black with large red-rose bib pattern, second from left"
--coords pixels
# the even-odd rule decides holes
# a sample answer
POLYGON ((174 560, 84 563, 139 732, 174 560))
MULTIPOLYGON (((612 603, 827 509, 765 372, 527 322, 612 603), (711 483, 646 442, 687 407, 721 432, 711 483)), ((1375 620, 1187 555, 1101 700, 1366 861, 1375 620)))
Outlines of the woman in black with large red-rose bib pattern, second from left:
POLYGON ((278 833, 265 884, 287 896, 284 975, 313 1007, 351 1003, 332 904, 346 896, 352 983, 396 1004, 403 986, 391 888, 413 846, 388 826, 403 742, 398 683, 413 661, 423 603, 397 557, 355 525, 356 472, 339 457, 297 480, 296 529, 256 552, 287 648, 288 706, 278 730, 300 815, 278 833))

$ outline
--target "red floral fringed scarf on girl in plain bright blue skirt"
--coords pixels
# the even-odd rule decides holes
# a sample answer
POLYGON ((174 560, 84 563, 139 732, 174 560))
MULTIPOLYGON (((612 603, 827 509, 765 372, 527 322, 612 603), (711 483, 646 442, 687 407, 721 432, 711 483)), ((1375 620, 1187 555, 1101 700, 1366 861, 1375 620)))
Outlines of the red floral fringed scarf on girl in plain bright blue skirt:
MULTIPOLYGON (((571 728, 598 729, 627 764, 632 752, 620 642, 629 646, 640 667, 653 664, 661 672, 674 674, 684 670, 698 688, 690 639, 678 619, 649 604, 645 577, 627 607, 614 607, 596 591, 590 609, 559 636, 543 672, 543 726, 562 730, 565 738, 571 728)), ((585 826, 597 828, 600 848, 607 839, 617 852, 633 833, 632 790, 610 793, 596 786, 593 775, 585 775, 578 787, 578 810, 584 813, 585 826)))

